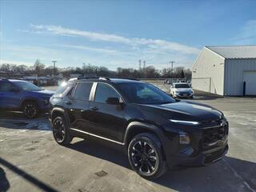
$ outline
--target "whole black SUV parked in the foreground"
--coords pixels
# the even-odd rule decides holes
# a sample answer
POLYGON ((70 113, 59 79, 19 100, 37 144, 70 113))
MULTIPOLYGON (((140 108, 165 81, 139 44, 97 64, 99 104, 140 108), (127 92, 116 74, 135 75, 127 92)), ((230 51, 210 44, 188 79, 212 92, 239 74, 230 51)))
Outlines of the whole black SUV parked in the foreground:
POLYGON ((119 146, 144 178, 166 167, 204 166, 228 150, 228 122, 221 111, 171 98, 132 79, 71 79, 50 99, 56 142, 94 137, 119 146))

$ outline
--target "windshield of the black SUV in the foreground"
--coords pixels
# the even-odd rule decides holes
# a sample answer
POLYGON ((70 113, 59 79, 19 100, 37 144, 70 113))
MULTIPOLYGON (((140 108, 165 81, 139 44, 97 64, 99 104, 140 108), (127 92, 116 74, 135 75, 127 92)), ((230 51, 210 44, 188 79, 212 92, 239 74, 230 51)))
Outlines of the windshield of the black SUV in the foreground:
POLYGON ((128 102, 139 104, 163 104, 175 102, 168 94, 157 87, 142 82, 126 82, 117 84, 118 90, 128 102))

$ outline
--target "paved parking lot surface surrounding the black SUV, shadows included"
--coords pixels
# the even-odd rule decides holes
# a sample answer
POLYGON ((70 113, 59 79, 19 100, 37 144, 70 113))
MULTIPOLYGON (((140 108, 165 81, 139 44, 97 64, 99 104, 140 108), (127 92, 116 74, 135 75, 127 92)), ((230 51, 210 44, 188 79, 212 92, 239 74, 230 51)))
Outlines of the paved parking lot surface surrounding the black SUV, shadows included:
POLYGON ((54 142, 50 123, 0 114, 0 191, 256 191, 256 98, 198 94, 194 101, 222 110, 230 150, 211 166, 170 170, 147 181, 130 170, 115 146, 75 138, 54 142))

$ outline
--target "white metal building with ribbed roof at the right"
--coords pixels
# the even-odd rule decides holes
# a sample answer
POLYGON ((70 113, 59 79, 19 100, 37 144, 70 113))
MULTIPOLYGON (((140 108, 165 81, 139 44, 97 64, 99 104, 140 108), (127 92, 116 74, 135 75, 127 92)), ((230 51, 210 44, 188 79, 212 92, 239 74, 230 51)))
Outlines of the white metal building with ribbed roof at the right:
POLYGON ((220 95, 256 95, 256 46, 205 46, 192 66, 192 86, 220 95))

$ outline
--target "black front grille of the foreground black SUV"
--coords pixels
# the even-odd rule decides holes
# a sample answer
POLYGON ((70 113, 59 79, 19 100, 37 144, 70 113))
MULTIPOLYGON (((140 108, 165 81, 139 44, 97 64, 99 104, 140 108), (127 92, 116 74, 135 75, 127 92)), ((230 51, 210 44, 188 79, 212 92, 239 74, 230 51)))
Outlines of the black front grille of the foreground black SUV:
POLYGON ((220 126, 214 126, 203 130, 203 147, 214 146, 221 142, 228 134, 228 124, 220 123, 220 126))

